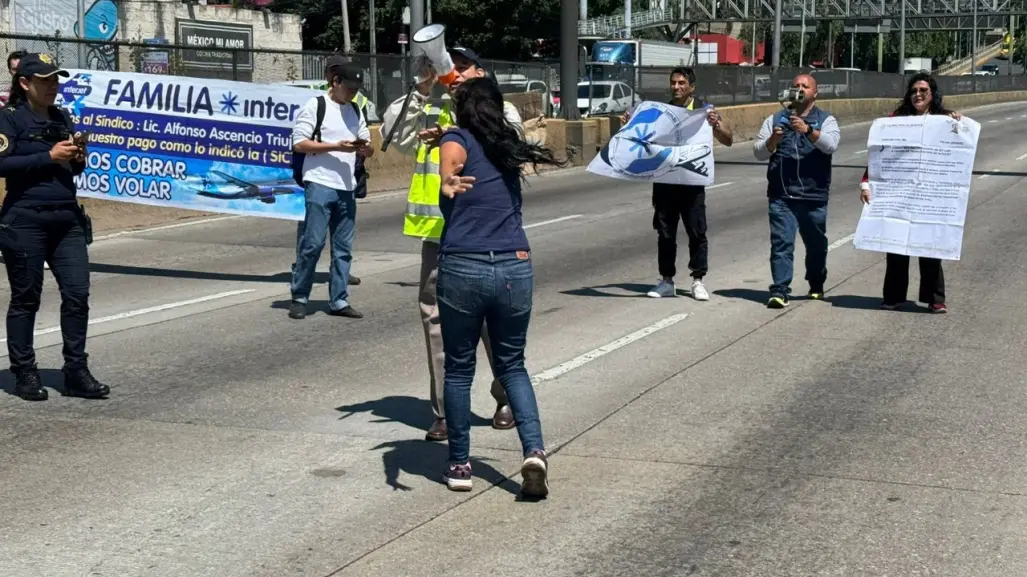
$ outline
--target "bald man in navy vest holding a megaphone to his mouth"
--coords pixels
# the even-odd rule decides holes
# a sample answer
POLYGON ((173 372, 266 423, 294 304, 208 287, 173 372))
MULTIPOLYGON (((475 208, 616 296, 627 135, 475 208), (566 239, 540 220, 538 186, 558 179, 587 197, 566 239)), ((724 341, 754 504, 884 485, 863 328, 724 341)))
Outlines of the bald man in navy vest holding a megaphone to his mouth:
POLYGON ((828 269, 828 193, 831 159, 841 130, 831 113, 816 106, 816 80, 795 77, 789 108, 763 121, 753 153, 767 163, 770 208, 769 308, 785 308, 792 292, 795 233, 806 246, 808 297, 824 298, 828 269))

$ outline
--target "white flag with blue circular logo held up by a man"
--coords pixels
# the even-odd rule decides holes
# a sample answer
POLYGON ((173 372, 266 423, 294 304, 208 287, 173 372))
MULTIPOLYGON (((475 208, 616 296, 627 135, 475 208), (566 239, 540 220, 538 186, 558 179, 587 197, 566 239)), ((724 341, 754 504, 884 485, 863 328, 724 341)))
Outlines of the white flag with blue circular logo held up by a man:
POLYGON ((625 181, 713 184, 713 127, 707 111, 646 101, 588 163, 588 171, 625 181))

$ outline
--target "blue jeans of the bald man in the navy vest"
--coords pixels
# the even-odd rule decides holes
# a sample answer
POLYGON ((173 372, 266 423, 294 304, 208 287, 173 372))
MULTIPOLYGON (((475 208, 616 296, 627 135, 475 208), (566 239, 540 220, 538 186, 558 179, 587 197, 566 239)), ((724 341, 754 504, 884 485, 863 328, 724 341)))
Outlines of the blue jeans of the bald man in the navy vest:
POLYGON ((790 198, 770 199, 770 295, 791 295, 795 233, 806 246, 806 281, 823 292, 828 278, 828 203, 790 198))

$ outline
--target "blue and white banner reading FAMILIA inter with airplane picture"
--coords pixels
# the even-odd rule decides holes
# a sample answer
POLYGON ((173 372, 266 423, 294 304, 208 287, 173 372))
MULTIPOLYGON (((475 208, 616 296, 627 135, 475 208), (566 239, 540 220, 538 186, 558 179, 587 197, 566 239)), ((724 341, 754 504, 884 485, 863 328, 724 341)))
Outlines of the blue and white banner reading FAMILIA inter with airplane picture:
POLYGON ((78 194, 303 220, 292 131, 322 92, 203 78, 69 70, 58 105, 88 132, 78 194))

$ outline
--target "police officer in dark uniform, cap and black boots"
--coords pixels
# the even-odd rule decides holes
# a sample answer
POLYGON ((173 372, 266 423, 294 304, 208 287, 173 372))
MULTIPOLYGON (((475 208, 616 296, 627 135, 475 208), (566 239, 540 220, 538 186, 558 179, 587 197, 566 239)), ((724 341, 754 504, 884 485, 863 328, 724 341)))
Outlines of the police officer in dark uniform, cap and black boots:
POLYGON ((58 76, 68 72, 48 54, 26 54, 8 105, 0 110, 0 178, 7 184, 0 206, 0 252, 11 293, 7 353, 14 393, 26 400, 47 397, 32 343, 44 262, 61 290, 64 394, 100 398, 110 393, 86 364, 91 226, 76 200, 74 180, 85 169, 85 140, 76 138, 71 116, 53 104, 58 76))

